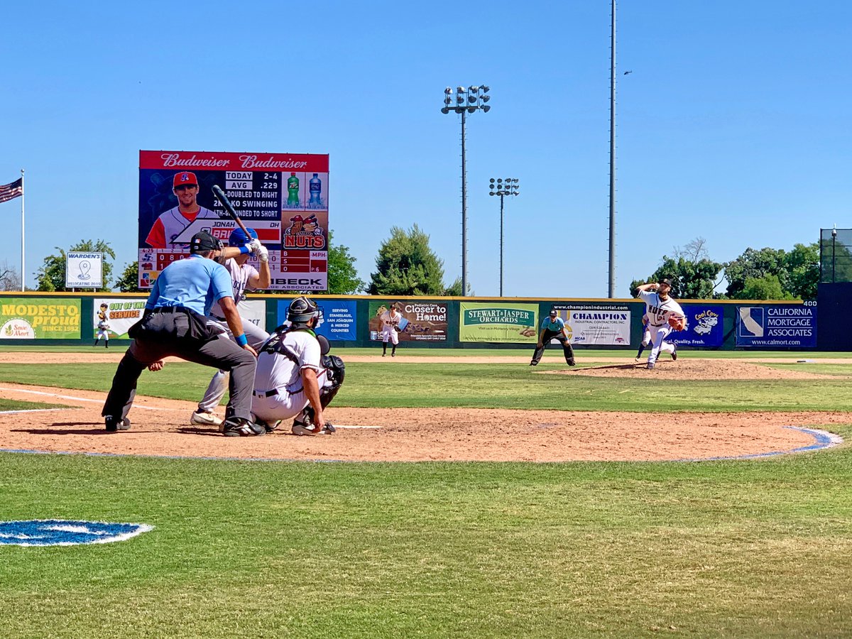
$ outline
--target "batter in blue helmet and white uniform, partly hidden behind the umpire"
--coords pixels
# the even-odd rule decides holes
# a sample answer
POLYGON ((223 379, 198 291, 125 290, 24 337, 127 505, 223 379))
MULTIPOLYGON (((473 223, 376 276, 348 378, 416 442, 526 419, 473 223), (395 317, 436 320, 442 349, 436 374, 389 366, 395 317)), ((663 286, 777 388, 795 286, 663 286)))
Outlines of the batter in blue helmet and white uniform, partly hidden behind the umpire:
MULTIPOLYGON (((255 229, 248 229, 249 235, 245 234, 242 228, 235 228, 227 239, 229 248, 222 251, 221 256, 216 259, 227 269, 231 275, 233 283, 233 301, 237 304, 239 311, 239 303, 245 298, 245 291, 256 291, 257 289, 268 288, 269 282, 272 279, 269 272, 269 251, 257 239, 255 229), (261 263, 260 272, 256 268, 247 264, 249 260, 249 251, 254 250, 261 263), (239 252, 237 252, 239 251, 239 252)), ((227 337, 233 339, 233 333, 227 326, 225 314, 220 307, 219 302, 210 308, 210 317, 222 323, 222 326, 227 330, 227 337)), ((269 339, 269 334, 253 322, 243 319, 243 330, 245 337, 248 339, 251 348, 260 350, 264 342, 269 339)), ((222 401, 227 389, 227 371, 216 371, 216 374, 210 380, 210 385, 204 393, 204 398, 199 402, 198 410, 193 412, 189 418, 189 423, 198 426, 219 426, 222 419, 216 416, 216 406, 222 401)))

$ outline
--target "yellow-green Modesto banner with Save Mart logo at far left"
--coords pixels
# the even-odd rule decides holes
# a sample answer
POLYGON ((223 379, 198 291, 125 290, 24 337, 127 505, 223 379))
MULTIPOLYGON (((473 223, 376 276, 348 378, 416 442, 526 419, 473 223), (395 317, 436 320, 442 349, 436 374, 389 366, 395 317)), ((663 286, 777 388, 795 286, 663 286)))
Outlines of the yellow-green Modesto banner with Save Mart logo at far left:
POLYGON ((0 339, 80 339, 80 300, 5 297, 0 339))

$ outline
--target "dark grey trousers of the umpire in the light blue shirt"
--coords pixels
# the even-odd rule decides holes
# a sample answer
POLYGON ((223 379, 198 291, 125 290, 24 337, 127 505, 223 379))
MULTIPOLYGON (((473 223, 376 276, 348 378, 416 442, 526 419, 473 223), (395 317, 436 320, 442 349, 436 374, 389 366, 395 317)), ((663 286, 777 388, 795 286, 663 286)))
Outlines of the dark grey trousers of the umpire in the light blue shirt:
POLYGON ((254 388, 257 360, 244 348, 232 342, 222 333, 206 342, 190 337, 167 339, 135 339, 124 354, 112 377, 112 388, 107 395, 101 415, 124 419, 133 406, 136 382, 149 364, 173 355, 182 360, 231 373, 230 398, 227 401, 225 418, 243 417, 251 419, 251 393, 254 388))

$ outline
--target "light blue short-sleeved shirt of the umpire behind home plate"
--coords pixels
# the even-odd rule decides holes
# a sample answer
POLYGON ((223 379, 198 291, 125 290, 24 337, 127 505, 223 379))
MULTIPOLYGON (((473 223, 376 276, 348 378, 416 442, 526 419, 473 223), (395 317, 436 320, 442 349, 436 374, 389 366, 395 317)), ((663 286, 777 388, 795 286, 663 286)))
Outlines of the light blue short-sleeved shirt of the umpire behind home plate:
POLYGON ((145 308, 177 306, 207 315, 213 302, 222 297, 233 297, 227 269, 206 257, 192 255, 163 269, 154 280, 145 308))

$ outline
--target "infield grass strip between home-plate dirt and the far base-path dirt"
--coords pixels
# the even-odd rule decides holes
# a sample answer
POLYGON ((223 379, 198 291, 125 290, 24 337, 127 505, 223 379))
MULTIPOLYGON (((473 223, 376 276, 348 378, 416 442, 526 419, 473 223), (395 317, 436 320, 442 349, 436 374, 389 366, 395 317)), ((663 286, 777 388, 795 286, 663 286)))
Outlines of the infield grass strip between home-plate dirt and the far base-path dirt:
MULTIPOLYGON (((632 360, 631 360, 632 361, 632 360)), ((600 364, 600 362, 598 362, 600 364)), ((583 360, 580 366, 593 366, 583 360)), ((762 365, 778 368, 797 364, 762 365)), ((115 364, 0 364, 0 383, 57 385, 71 389, 109 389, 115 364)), ((805 370, 836 379, 814 380, 663 380, 575 375, 540 375, 561 364, 423 364, 394 361, 350 362, 335 406, 522 408, 574 411, 849 411, 852 366, 809 364, 805 370), (393 392, 387 392, 393 389, 393 392), (649 399, 653 398, 653 399, 649 399)), ((178 362, 163 371, 142 373, 139 393, 198 401, 211 370, 178 362)))

